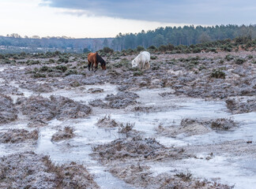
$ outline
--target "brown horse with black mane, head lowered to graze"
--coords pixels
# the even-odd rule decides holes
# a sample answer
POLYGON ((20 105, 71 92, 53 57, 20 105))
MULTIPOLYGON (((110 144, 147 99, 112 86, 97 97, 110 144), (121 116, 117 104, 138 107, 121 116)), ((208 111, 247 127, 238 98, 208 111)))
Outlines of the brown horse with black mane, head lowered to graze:
POLYGON ((100 62, 101 68, 106 69, 106 61, 98 53, 89 53, 88 54, 88 71, 90 71, 92 67, 93 71, 93 66, 94 66, 94 72, 98 69, 98 64, 100 62))

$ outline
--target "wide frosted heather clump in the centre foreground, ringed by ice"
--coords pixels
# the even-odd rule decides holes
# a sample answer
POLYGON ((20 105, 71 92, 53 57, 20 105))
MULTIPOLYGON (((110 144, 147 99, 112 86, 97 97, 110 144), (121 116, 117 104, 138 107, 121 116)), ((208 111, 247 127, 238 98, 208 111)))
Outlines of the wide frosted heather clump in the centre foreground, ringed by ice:
POLYGON ((126 139, 116 139, 111 143, 94 146, 93 149, 101 161, 114 161, 125 159, 179 159, 190 155, 184 154, 183 149, 167 148, 156 141, 156 139, 142 139, 139 135, 126 139))

